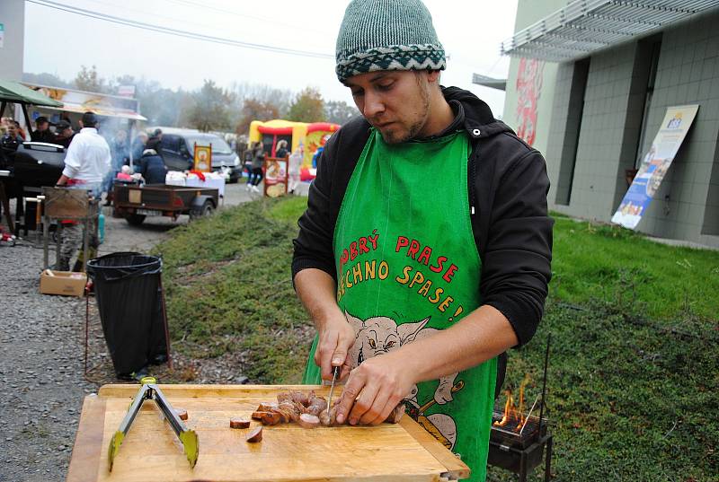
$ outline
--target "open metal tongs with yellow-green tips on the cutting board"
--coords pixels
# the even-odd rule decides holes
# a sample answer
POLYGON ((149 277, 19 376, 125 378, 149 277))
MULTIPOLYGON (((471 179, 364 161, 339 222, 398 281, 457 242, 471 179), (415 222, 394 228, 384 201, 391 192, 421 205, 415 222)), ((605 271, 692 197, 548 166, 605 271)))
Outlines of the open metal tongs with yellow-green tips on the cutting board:
POLYGON ((153 377, 145 377, 140 383, 142 387, 129 406, 128 415, 122 419, 120 427, 117 432, 112 435, 110 441, 110 447, 108 449, 108 460, 110 460, 110 471, 112 471, 112 462, 117 457, 118 451, 120 451, 120 445, 124 440, 125 436, 129 432, 129 426, 132 425, 135 417, 138 416, 142 403, 145 400, 155 400, 157 407, 162 411, 164 418, 173 427, 174 434, 180 439, 182 448, 187 455, 187 460, 190 462, 190 467, 194 468, 197 463, 197 458, 200 453, 200 441, 198 440, 197 434, 194 430, 188 429, 175 413, 173 406, 170 402, 164 398, 162 390, 156 385, 157 381, 153 377))

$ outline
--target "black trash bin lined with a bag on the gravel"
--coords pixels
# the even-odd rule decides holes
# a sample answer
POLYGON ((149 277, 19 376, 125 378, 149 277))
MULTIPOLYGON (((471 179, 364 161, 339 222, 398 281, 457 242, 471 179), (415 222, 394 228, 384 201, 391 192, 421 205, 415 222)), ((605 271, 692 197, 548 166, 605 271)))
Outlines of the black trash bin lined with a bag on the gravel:
POLYGON ((87 262, 112 364, 119 378, 167 360, 160 276, 163 261, 135 252, 87 262))

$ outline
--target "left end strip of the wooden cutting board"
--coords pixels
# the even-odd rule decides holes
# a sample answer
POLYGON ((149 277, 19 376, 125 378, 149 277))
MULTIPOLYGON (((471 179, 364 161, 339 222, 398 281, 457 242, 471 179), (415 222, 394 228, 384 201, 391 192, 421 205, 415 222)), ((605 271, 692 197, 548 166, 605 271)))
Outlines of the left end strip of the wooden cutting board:
POLYGON ((67 482, 94 482, 100 470, 102 436, 105 429, 105 400, 88 395, 77 426, 75 445, 67 469, 67 482))

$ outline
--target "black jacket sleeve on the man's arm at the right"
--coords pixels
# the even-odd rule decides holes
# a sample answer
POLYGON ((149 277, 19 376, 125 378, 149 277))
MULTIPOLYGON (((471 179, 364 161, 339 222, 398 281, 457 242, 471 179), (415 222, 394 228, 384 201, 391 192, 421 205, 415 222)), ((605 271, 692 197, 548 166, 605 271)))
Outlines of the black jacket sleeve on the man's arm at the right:
POLYGON ((522 346, 537 331, 551 277, 549 179, 544 158, 533 149, 496 175, 480 292, 484 304, 507 317, 522 346))

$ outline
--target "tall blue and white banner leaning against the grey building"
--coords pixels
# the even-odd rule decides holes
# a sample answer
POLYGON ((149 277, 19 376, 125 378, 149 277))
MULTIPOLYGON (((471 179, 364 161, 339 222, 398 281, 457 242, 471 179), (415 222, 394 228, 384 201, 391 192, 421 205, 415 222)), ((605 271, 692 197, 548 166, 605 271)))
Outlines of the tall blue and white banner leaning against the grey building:
POLYGON ((652 202, 654 193, 659 189, 661 180, 669 171, 671 162, 679 152, 689 127, 697 117, 697 110, 699 106, 696 104, 667 108, 652 147, 644 155, 635 180, 619 203, 617 212, 612 216, 612 223, 629 229, 636 228, 652 202))

